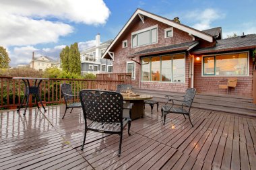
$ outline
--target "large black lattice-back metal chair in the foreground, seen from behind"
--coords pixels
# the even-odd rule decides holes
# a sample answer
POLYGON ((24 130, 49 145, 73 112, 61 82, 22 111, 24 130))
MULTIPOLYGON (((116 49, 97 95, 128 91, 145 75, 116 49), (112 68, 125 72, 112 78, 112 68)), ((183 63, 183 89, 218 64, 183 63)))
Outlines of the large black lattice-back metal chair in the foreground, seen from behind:
MULTIPOLYGON (((123 129, 128 124, 131 128, 131 110, 129 118, 123 118, 123 96, 114 91, 82 90, 79 92, 85 119, 85 132, 82 150, 86 142, 87 130, 106 134, 119 134, 119 157, 123 138, 123 129), (92 121, 88 124, 87 120, 92 121)), ((129 105, 132 108, 133 103, 129 105)), ((128 108, 127 108, 128 109, 128 108)))

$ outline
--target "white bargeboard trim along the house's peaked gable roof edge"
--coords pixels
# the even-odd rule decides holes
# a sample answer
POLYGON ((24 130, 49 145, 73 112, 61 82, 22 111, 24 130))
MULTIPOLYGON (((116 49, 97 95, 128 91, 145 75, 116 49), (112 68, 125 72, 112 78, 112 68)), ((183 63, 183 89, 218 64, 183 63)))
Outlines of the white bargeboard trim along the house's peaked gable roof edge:
POLYGON ((117 42, 117 40, 119 40, 119 38, 121 37, 121 35, 123 34, 123 32, 125 32, 125 30, 128 28, 128 26, 131 24, 131 22, 133 22, 133 19, 135 19, 135 17, 137 15, 140 15, 139 17, 141 17, 141 15, 146 16, 146 17, 150 17, 152 19, 157 20, 158 22, 162 22, 164 24, 167 24, 169 26, 172 26, 174 28, 177 28, 179 30, 182 30, 184 32, 187 32, 188 34, 191 34, 193 36, 197 36, 203 40, 206 40, 208 42, 213 42, 214 38, 212 35, 207 34, 205 32, 201 32, 199 30, 196 30, 194 28, 191 28, 189 26, 185 26, 183 24, 177 23, 172 21, 171 19, 167 19, 165 17, 161 17, 160 15, 156 15, 154 13, 150 13, 148 11, 144 11, 143 9, 137 9, 135 11, 135 13, 133 13, 133 15, 130 17, 130 19, 128 20, 128 22, 125 24, 125 26, 123 26, 122 30, 119 32, 119 34, 117 34, 117 36, 115 37, 115 39, 113 40, 113 42, 110 44, 110 46, 108 46, 108 48, 106 49, 106 51, 104 52, 104 54, 102 55, 102 58, 105 58, 106 54, 108 54, 109 50, 114 46, 115 42, 117 42))

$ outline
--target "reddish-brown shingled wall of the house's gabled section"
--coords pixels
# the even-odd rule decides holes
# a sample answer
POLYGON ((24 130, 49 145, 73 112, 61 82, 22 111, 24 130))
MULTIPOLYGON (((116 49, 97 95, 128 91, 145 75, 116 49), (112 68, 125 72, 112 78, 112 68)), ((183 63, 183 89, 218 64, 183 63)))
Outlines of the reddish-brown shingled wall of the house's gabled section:
MULTIPOLYGON (((138 16, 137 16, 138 17, 138 16)), ((145 50, 148 48, 156 48, 160 46, 168 46, 171 44, 180 44, 183 42, 191 42, 193 38, 189 36, 188 33, 183 32, 181 30, 173 29, 173 37, 172 38, 164 38, 164 29, 170 28, 170 26, 163 24, 161 22, 157 22, 154 19, 145 17, 144 24, 140 19, 135 19, 133 23, 127 28, 129 32, 125 32, 123 36, 120 38, 117 43, 117 46, 113 49, 115 53, 115 60, 113 62, 113 72, 114 73, 126 73, 127 71, 127 61, 131 61, 131 58, 128 58, 130 54, 135 52, 145 50), (142 30, 144 28, 148 28, 150 26, 158 25, 158 43, 150 44, 146 46, 139 46, 137 48, 131 48, 131 33, 136 32, 138 30, 142 30), (122 47, 123 40, 127 40, 127 48, 122 47)), ((140 62, 139 56, 133 58, 137 62, 140 62)), ((181 91, 184 92, 189 85, 188 80, 189 73, 189 57, 186 54, 186 77, 185 83, 157 83, 157 82, 140 82, 140 74, 141 74, 141 65, 135 63, 135 80, 132 80, 133 87, 140 87, 142 89, 162 89, 168 91, 181 91)))

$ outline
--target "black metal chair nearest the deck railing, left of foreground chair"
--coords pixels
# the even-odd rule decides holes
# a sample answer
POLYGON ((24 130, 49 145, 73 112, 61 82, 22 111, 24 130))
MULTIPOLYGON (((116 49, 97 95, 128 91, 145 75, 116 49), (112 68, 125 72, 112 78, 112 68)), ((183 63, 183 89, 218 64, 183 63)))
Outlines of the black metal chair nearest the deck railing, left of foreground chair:
MULTIPOLYGON (((72 112, 73 108, 82 108, 82 105, 80 102, 75 102, 75 96, 78 95, 73 95, 71 85, 67 83, 61 84, 61 93, 64 97, 65 101, 65 114, 67 112, 67 109, 71 108, 70 113, 72 112)), ((63 115, 62 118, 64 118, 65 114, 63 115)))

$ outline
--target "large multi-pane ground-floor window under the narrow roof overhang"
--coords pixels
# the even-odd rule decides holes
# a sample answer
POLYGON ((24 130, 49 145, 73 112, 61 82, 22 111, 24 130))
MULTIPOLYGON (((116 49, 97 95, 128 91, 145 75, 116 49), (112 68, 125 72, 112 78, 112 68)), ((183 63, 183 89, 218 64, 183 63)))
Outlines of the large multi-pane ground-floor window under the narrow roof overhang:
POLYGON ((185 82, 185 53, 141 58, 141 81, 185 82))

